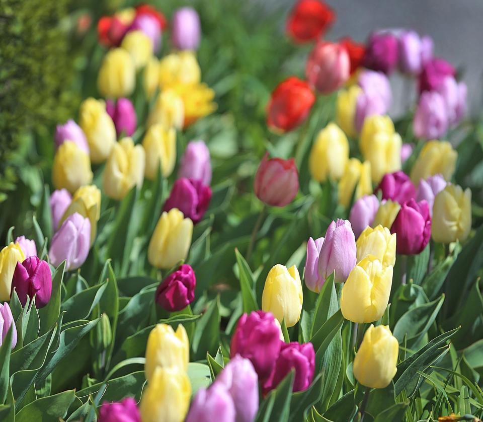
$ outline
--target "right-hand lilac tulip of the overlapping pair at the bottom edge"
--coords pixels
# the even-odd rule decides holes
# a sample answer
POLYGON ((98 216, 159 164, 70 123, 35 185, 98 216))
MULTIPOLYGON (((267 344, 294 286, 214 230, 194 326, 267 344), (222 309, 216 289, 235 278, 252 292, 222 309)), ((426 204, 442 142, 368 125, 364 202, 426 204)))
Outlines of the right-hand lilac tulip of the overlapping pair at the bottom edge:
POLYGON ((239 355, 228 362, 216 383, 228 390, 235 405, 236 422, 253 422, 258 412, 258 376, 252 363, 239 355))

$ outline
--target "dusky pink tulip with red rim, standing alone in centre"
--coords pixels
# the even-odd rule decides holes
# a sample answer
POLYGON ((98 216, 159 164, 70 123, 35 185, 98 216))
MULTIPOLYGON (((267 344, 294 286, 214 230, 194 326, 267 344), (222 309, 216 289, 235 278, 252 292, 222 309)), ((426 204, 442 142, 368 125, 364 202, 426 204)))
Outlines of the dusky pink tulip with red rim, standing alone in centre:
POLYGON ((298 192, 295 160, 268 159, 266 153, 255 175, 254 190, 257 198, 267 205, 289 204, 298 192))

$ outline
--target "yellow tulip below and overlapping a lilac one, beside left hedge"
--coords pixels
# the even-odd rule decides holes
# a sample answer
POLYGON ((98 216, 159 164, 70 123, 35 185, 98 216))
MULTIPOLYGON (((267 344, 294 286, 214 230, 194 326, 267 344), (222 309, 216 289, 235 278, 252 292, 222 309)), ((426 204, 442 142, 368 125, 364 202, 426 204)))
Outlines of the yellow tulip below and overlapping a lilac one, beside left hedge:
POLYGON ((52 182, 56 189, 75 192, 92 182, 93 173, 89 155, 67 140, 57 150, 52 165, 52 182))

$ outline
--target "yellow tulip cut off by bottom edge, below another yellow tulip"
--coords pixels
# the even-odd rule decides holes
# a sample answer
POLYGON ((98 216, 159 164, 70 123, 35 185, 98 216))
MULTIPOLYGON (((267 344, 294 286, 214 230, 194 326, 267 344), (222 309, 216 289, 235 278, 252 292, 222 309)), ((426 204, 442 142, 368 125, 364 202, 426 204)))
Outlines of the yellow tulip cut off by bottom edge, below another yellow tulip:
POLYGON ((156 368, 141 397, 142 422, 182 422, 190 405, 191 384, 185 371, 156 368))

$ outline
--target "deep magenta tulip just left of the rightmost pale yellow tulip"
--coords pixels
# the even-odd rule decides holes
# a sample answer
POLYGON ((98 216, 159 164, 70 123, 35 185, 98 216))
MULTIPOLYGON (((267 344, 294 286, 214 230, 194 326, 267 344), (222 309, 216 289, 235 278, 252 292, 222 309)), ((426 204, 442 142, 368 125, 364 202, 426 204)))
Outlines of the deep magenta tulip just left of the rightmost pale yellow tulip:
POLYGON ((431 216, 428 202, 410 199, 401 205, 391 226, 396 233, 396 252, 403 255, 417 255, 431 238, 431 216))

